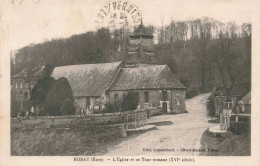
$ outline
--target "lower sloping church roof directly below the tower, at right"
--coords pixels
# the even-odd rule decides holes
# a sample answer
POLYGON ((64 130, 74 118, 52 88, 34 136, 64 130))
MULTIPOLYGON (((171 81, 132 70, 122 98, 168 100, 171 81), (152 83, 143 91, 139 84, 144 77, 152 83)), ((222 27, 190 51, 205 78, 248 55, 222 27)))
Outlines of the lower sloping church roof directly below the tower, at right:
POLYGON ((185 88, 167 65, 121 68, 108 90, 185 88))

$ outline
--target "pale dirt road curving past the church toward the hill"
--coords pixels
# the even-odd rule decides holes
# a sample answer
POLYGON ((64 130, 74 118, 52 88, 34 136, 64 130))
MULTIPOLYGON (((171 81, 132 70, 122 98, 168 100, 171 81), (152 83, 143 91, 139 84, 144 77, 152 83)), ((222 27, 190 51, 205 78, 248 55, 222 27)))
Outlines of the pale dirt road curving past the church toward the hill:
POLYGON ((149 123, 164 121, 166 125, 157 126, 155 130, 127 139, 109 148, 105 155, 198 155, 199 152, 183 149, 201 147, 201 135, 211 125, 207 122, 205 105, 208 96, 209 94, 201 94, 186 100, 186 110, 189 113, 152 117, 149 123))

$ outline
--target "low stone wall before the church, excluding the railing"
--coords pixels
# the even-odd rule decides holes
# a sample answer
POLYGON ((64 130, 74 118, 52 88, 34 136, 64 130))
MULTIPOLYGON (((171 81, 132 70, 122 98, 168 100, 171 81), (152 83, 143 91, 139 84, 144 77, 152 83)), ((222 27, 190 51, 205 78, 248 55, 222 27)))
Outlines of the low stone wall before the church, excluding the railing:
MULTIPOLYGON (((125 121, 125 114, 145 112, 135 110, 118 113, 91 114, 87 116, 37 116, 11 119, 12 127, 25 128, 71 128, 88 125, 120 124, 125 121)), ((131 119, 129 119, 131 120, 131 119)))

